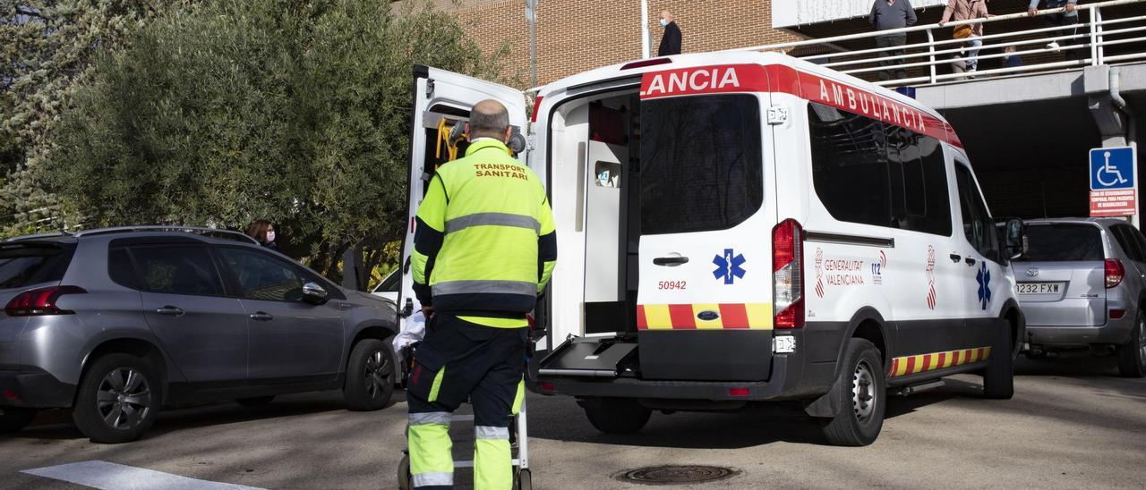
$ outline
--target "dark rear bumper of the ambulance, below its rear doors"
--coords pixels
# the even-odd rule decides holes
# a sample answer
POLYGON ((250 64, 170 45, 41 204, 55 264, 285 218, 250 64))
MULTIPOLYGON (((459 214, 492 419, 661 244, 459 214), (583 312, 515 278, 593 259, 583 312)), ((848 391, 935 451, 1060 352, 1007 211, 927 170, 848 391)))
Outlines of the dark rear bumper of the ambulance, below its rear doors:
POLYGON ((819 396, 831 387, 830 369, 822 370, 829 376, 803 376, 813 374, 804 371, 801 356, 774 355, 768 381, 643 380, 629 377, 584 378, 541 374, 533 378, 529 387, 542 395, 709 401, 804 400, 819 396))

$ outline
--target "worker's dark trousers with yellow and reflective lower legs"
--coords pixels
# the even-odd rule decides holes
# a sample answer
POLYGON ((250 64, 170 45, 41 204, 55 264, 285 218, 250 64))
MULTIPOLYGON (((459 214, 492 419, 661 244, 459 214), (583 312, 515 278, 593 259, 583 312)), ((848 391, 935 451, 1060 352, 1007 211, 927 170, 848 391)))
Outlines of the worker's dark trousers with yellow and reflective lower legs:
POLYGON ((478 325, 445 313, 431 318, 406 390, 416 488, 453 488, 449 421, 466 400, 473 405, 474 488, 512 485, 509 425, 525 395, 527 330, 478 325))

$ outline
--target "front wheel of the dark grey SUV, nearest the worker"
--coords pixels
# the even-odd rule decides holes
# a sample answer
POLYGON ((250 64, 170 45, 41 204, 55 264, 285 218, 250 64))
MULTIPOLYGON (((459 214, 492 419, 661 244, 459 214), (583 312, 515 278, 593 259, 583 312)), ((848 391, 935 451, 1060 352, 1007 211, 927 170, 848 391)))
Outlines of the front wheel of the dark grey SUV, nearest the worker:
POLYGON ((386 342, 364 339, 355 343, 346 363, 346 386, 343 388, 346 406, 355 411, 386 408, 398 379, 394 368, 394 351, 386 342))

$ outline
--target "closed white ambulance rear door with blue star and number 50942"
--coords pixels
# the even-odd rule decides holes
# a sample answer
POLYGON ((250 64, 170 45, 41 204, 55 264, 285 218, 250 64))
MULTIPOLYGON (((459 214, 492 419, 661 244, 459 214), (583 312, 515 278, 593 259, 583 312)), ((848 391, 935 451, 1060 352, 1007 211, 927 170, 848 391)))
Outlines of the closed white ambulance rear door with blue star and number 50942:
POLYGON ((777 220, 767 77, 746 64, 643 76, 644 379, 769 379, 777 220))

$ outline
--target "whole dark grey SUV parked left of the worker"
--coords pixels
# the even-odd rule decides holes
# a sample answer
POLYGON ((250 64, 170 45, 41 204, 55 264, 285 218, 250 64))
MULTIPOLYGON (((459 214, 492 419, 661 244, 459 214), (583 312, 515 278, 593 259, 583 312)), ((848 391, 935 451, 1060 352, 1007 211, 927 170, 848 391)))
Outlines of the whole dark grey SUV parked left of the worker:
POLYGON ((160 406, 342 389, 393 394, 392 302, 344 290, 237 232, 135 227, 0 242, 0 432, 71 408, 94 442, 160 406))

